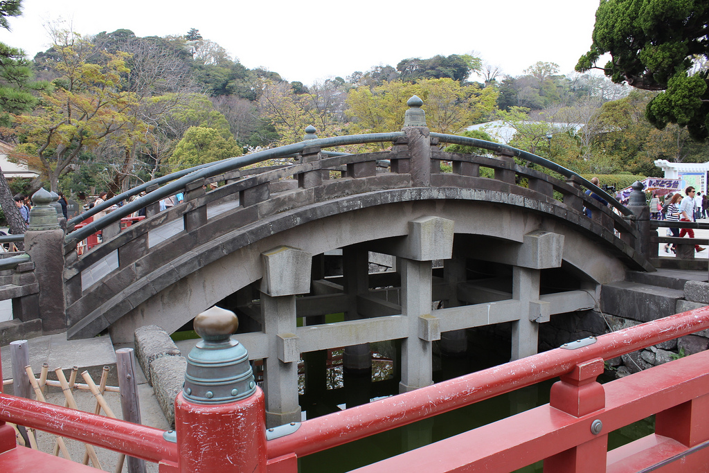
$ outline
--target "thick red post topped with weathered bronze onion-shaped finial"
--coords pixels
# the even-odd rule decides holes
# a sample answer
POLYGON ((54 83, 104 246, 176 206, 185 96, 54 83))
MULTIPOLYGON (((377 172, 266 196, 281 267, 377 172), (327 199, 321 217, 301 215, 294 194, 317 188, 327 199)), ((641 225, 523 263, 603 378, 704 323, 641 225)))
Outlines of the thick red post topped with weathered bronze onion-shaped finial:
POLYGON ((266 472, 266 406, 243 345, 230 340, 233 312, 213 307, 194 319, 203 338, 187 357, 175 399, 180 473, 266 472))

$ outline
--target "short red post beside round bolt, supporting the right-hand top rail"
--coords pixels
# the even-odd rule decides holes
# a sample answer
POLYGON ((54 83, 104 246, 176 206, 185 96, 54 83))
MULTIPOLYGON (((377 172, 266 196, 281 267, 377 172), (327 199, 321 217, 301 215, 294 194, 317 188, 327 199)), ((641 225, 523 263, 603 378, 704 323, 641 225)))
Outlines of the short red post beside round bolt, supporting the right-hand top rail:
MULTIPOLYGON (((549 405, 571 414, 584 417, 605 408, 605 391, 596 377, 603 373, 603 358, 576 365, 573 371, 563 374, 549 393, 549 405)), ((608 435, 601 434, 601 421, 588 420, 588 440, 544 460, 545 473, 605 472, 608 435)))

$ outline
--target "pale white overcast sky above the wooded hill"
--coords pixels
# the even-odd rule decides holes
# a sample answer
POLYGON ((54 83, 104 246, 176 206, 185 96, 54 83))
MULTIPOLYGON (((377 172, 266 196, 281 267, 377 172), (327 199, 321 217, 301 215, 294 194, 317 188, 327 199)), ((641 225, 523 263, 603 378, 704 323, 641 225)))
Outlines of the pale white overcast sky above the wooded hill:
POLYGON ((119 28, 138 36, 197 28, 243 65, 288 81, 347 77, 407 57, 471 53, 522 74, 537 61, 573 72, 591 46, 599 0, 157 1, 23 0, 0 41, 30 57, 46 50, 43 26, 62 18, 83 35, 119 28))

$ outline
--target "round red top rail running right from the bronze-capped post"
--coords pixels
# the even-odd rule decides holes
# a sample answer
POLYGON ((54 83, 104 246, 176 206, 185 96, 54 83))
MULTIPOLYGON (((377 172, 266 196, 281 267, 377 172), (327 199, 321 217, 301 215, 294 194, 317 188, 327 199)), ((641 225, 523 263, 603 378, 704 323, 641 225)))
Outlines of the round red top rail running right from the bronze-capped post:
MULTIPOLYGON (((582 362, 626 353, 709 328, 709 308, 698 308, 598 337, 576 350, 557 348, 416 391, 305 421, 296 433, 269 441, 269 459, 311 455, 384 430, 552 379, 582 362)), ((708 389, 709 391, 709 389, 708 389)))

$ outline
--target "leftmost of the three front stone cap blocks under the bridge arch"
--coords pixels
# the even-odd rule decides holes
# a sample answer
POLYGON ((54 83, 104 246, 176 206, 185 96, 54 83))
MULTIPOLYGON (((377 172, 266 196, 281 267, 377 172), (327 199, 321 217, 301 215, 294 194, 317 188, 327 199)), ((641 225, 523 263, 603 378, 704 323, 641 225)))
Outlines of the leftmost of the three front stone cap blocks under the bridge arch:
POLYGON ((312 255, 279 246, 261 253, 264 265, 261 292, 269 296, 294 296, 310 291, 312 255))

